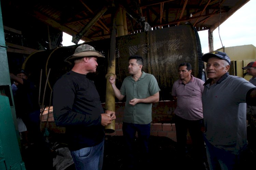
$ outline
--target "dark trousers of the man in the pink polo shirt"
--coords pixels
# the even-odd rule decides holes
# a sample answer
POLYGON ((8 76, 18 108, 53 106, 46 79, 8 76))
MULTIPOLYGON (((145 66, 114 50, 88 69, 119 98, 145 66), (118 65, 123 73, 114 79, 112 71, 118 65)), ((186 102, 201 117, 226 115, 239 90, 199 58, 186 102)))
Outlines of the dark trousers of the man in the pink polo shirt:
POLYGON ((180 160, 186 157, 186 145, 187 145, 187 131, 192 141, 192 154, 198 163, 202 163, 206 160, 206 153, 204 148, 203 133, 201 127, 203 126, 203 119, 199 120, 186 120, 175 114, 174 117, 176 127, 177 138, 177 153, 180 160))

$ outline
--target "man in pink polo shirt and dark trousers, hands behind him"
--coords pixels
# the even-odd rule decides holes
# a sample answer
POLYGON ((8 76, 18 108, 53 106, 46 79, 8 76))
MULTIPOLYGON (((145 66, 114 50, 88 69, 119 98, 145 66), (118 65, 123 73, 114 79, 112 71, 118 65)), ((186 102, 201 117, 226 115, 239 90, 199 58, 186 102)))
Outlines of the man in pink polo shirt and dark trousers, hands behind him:
MULTIPOLYGON (((187 131, 192 140, 192 154, 197 169, 205 169, 205 149, 201 127, 203 126, 202 92, 204 81, 191 75, 190 63, 179 65, 180 79, 172 86, 172 96, 177 102, 174 110, 177 153, 181 162, 186 159, 187 131)), ((189 165, 191 166, 191 165, 189 165)))

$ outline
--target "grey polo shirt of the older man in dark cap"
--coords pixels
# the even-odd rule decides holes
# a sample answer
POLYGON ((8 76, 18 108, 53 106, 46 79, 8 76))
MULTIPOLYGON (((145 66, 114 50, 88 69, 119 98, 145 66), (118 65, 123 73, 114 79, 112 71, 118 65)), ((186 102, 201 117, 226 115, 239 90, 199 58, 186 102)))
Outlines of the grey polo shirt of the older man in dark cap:
POLYGON ((225 74, 206 84, 202 94, 205 137, 217 148, 237 154, 247 143, 246 93, 255 86, 244 78, 225 74))

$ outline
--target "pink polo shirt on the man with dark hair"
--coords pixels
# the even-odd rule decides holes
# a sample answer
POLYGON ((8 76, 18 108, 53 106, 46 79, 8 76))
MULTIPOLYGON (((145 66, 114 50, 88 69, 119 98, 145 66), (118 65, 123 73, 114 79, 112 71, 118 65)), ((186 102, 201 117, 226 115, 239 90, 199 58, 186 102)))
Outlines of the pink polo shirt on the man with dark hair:
POLYGON ((177 107, 174 113, 186 120, 203 119, 202 92, 204 81, 191 75, 187 84, 181 79, 172 86, 172 96, 177 97, 177 107))

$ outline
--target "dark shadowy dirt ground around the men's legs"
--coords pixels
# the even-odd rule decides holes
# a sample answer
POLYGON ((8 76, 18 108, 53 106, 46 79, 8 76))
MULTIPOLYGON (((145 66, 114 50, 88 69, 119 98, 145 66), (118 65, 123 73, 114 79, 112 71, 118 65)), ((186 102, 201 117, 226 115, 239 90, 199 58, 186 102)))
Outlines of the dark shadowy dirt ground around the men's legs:
MULTIPOLYGON (((22 157, 27 170, 56 170, 52 165, 52 159, 56 157, 56 149, 67 147, 67 142, 64 134, 52 134, 49 136, 47 146, 37 147, 29 146, 27 149, 22 149, 22 157), (48 152, 49 148, 49 152, 48 152)), ((106 136, 104 146, 104 160, 102 170, 124 170, 124 140, 123 136, 106 136)), ((176 142, 167 137, 150 136, 150 169, 196 169, 200 170, 194 164, 194 159, 191 156, 191 145, 187 145, 187 155, 185 160, 177 159, 176 142)), ((139 152, 138 152, 139 155, 139 152)), ((65 155, 62 155, 65 156, 65 155)), ((243 168, 246 170, 254 169, 255 154, 247 152, 243 158, 243 168)), ((207 163, 206 163, 207 164, 207 163)), ((143 167, 138 167, 143 169, 143 167)), ((208 166, 203 168, 209 169, 208 166)), ((62 169, 63 170, 63 169, 62 169)), ((75 170, 74 164, 65 168, 65 170, 75 170)))

